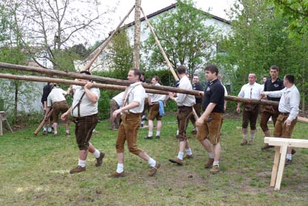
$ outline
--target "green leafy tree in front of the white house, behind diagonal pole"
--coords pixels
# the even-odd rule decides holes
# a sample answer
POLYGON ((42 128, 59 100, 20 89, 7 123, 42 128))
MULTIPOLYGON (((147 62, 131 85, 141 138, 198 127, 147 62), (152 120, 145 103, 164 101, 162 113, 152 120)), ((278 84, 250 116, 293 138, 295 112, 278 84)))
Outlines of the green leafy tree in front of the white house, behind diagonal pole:
MULTIPOLYGON (((183 64, 192 76, 211 60, 218 30, 204 24, 207 18, 210 16, 194 8, 193 1, 179 0, 175 11, 165 12, 151 21, 173 68, 183 64)), ((149 54, 147 59, 150 68, 166 66, 152 35, 144 42, 144 49, 149 54)))

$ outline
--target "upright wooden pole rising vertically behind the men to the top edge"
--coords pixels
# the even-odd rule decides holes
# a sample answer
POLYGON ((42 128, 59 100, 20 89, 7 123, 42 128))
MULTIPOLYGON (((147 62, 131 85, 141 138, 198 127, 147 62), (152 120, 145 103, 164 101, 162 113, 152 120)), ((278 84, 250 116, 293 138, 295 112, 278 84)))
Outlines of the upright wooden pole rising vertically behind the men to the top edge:
POLYGON ((141 0, 136 0, 135 38, 133 44, 133 66, 135 68, 140 68, 140 6, 141 6, 141 0))

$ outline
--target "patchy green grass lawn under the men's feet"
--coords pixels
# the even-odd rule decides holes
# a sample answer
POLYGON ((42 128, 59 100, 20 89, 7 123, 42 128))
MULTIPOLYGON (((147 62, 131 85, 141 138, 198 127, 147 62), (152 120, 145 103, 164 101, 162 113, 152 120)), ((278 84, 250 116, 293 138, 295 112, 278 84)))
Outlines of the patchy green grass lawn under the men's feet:
MULTIPOLYGON (((87 170, 70 175, 77 166, 75 136, 52 134, 34 136, 34 127, 5 133, 0 137, 0 205, 308 205, 308 150, 296 149, 293 164, 285 168, 281 190, 269 186, 274 150, 261 151, 264 135, 257 130, 255 144, 240 146, 240 119, 224 119, 220 173, 210 175, 203 168, 207 153, 190 135, 194 159, 183 166, 168 162, 176 157, 175 116, 164 116, 159 140, 144 140, 147 129, 140 129, 138 145, 161 162, 155 177, 148 177, 149 166, 125 149, 127 177, 107 177, 116 170, 117 131, 109 122, 97 126, 91 142, 105 152, 103 166, 96 168, 92 154, 87 170)), ((272 126, 271 126, 272 127, 272 126)), ((73 131, 74 125, 70 126, 73 131)), ((308 124, 297 123, 293 138, 307 138, 308 124)), ((155 132, 155 130, 154 130, 155 132)))

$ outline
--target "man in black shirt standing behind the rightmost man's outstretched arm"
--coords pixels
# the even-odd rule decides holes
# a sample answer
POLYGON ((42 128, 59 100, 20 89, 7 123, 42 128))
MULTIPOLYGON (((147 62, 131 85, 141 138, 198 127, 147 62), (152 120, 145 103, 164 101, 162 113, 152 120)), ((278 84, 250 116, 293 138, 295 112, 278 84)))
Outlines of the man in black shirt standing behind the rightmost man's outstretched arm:
MULTIPOLYGON (((270 79, 268 79, 264 83, 264 92, 272 92, 272 91, 279 91, 284 88, 283 86, 283 80, 278 77, 279 75, 279 67, 276 65, 270 66, 270 79)), ((270 101, 280 101, 280 98, 274 98, 274 97, 267 97, 270 101)), ((279 116, 278 106, 272 106, 272 105, 264 105, 262 108, 261 113, 261 121, 260 126, 262 131, 264 131, 264 135, 266 137, 270 137, 270 130, 268 129, 268 120, 270 117, 272 117, 272 121, 274 123, 274 126, 276 124, 277 117, 279 116)), ((261 150, 269 149, 272 146, 269 146, 268 144, 264 144, 264 146, 261 148, 261 150)))

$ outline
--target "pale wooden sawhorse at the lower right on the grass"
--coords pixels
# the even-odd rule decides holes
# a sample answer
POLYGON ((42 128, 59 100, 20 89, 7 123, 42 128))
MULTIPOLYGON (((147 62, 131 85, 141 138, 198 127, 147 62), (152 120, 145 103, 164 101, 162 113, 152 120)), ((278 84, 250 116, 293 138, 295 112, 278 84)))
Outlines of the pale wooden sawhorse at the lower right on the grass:
POLYGON ((264 142, 275 146, 274 165, 272 166, 272 177, 270 178, 270 186, 275 187, 274 190, 280 190, 283 169, 285 168, 285 157, 287 155, 287 147, 308 148, 308 140, 290 139, 290 138, 264 138, 264 142))

